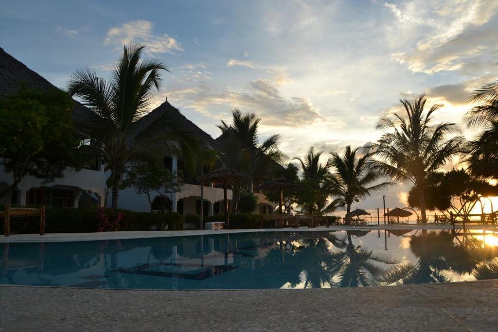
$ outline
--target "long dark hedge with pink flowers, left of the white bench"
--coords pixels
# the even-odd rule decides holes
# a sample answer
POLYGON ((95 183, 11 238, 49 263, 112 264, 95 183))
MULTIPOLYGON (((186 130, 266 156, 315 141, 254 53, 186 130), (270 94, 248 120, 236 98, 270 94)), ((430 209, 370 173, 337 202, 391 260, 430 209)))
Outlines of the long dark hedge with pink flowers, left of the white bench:
MULTIPOLYGON (((40 217, 10 219, 12 234, 37 233, 40 217)), ((183 216, 179 213, 152 214, 129 210, 96 208, 53 208, 47 209, 45 232, 86 233, 113 230, 172 230, 183 228, 183 216), (103 217, 104 216, 104 217, 103 217), (106 220, 107 219, 107 220, 106 220)), ((0 219, 0 234, 3 234, 4 219, 0 219)))

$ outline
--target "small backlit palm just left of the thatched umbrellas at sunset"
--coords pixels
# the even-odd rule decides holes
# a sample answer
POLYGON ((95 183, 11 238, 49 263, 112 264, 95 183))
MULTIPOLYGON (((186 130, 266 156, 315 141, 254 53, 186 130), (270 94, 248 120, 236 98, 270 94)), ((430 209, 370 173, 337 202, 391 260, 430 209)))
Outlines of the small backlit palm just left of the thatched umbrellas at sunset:
MULTIPOLYGON (((333 152, 331 158, 331 165, 336 170, 331 175, 333 182, 331 194, 337 197, 335 205, 346 206, 346 216, 349 216, 353 202, 360 202, 361 199, 370 196, 373 191, 394 184, 393 182, 382 182, 372 185, 382 178, 382 173, 376 169, 369 169, 371 154, 357 157, 358 150, 359 148, 352 150, 351 146, 348 145, 342 156, 333 152)), ((347 218, 346 224, 349 223, 350 219, 347 218)))

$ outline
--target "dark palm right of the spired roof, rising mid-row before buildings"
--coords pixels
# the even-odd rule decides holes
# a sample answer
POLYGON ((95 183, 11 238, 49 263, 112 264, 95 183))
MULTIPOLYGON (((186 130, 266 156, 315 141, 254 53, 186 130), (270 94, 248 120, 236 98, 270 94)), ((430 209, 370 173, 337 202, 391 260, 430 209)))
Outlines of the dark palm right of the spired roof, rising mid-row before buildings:
MULTIPOLYGON (((258 124, 261 118, 254 113, 243 114, 240 110, 232 111, 232 124, 221 121, 218 128, 225 136, 222 144, 224 162, 249 174, 249 192, 253 191, 253 183, 261 176, 267 175, 272 165, 283 161, 283 153, 278 149, 279 135, 272 135, 259 143, 258 124)), ((235 184, 233 188, 232 210, 237 211, 237 203, 243 184, 235 184)))

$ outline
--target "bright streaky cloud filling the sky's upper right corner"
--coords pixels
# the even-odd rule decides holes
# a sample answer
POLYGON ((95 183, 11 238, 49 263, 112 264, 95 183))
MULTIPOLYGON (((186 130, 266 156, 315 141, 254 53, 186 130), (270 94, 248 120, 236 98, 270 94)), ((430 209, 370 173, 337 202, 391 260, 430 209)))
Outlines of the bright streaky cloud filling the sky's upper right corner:
POLYGON ((496 47, 498 1, 412 0, 402 7, 384 5, 397 19, 390 31, 403 49, 392 53, 391 58, 406 64, 412 72, 467 71, 468 63, 489 57, 496 47), (424 37, 419 39, 420 36, 424 37), (410 39, 414 39, 411 45, 415 44, 415 48, 403 45, 403 40, 410 39))

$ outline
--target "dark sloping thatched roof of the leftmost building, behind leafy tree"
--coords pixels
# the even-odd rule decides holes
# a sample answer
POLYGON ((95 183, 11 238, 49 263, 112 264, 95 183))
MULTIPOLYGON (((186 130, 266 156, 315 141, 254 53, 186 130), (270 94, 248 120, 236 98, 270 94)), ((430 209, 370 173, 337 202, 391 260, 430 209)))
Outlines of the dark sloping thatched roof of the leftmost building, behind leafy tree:
MULTIPOLYGON (((0 96, 17 92, 21 85, 41 90, 55 87, 0 47, 0 96)), ((75 101, 73 119, 78 129, 87 132, 94 116, 92 111, 75 101)))

